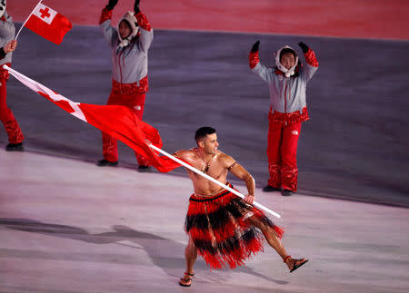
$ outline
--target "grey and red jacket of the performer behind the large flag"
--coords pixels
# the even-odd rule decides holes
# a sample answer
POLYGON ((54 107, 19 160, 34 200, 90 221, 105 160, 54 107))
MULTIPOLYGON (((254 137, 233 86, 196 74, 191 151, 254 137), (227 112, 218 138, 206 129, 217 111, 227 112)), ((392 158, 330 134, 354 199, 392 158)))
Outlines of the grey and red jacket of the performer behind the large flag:
POLYGON ((139 25, 138 37, 131 44, 119 47, 119 37, 111 25, 113 10, 103 9, 99 27, 112 49, 113 80, 117 83, 137 83, 138 93, 148 91, 148 49, 154 39, 154 31, 145 15, 141 12, 135 15, 139 25))

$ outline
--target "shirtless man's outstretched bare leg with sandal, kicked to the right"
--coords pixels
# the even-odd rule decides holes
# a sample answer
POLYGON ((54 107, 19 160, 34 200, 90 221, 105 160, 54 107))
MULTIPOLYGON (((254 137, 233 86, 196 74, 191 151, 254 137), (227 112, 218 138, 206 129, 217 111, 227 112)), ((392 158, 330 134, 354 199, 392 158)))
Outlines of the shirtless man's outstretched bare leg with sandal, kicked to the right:
POLYGON ((250 217, 248 220, 250 220, 250 223, 260 229, 263 232, 264 238, 267 240, 268 244, 277 251, 277 253, 280 255, 280 257, 285 260, 285 263, 287 264, 288 269, 294 269, 295 265, 300 265, 303 262, 305 262, 305 259, 292 259, 291 257, 288 258, 287 251, 284 249, 283 242, 281 239, 278 238, 277 234, 275 231, 270 228, 269 226, 266 226, 262 221, 258 220, 255 216, 250 217))

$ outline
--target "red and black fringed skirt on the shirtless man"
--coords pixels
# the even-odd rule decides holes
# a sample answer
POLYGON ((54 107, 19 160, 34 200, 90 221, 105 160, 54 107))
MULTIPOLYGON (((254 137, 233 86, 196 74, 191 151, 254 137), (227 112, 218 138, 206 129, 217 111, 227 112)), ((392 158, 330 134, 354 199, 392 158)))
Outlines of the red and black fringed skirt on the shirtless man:
MULTIPOLYGON (((230 183, 227 185, 233 188, 230 183)), ((284 230, 275 226, 262 210, 228 190, 205 198, 193 194, 189 201, 185 231, 211 269, 227 265, 234 269, 263 251, 264 236, 261 230, 250 225, 248 218, 252 216, 274 230, 280 239, 283 237, 284 230)))

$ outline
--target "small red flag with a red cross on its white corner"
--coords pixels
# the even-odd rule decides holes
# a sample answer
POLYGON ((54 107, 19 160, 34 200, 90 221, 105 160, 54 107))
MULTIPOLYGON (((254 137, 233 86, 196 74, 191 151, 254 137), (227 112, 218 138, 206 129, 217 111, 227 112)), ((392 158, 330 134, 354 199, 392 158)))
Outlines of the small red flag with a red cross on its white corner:
POLYGON ((25 27, 40 34, 48 41, 61 44, 65 34, 73 27, 68 18, 43 4, 35 10, 25 23, 25 27))

